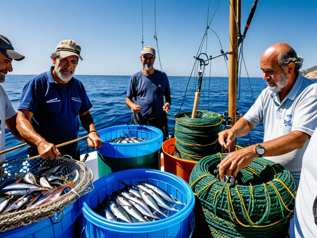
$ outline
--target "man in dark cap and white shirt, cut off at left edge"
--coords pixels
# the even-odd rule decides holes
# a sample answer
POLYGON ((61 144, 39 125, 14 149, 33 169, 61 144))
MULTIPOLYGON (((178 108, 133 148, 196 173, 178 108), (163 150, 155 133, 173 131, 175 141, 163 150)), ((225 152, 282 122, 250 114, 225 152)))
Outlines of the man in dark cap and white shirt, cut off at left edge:
MULTIPOLYGON (((1 83, 5 75, 12 72, 12 61, 21 61, 24 56, 16 52, 10 40, 0 35, 0 151, 5 150, 5 128, 18 140, 25 142, 16 130, 16 110, 13 108, 9 96, 1 83)), ((5 153, 0 155, 0 162, 5 160, 5 153)))

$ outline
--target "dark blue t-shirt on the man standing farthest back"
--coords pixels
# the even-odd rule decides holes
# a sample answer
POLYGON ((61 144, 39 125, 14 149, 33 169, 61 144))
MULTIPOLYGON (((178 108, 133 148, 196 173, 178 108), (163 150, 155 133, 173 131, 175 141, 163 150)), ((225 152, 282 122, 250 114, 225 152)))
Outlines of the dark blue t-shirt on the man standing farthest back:
POLYGON ((136 104, 142 108, 139 113, 146 119, 157 118, 162 114, 164 96, 170 95, 167 75, 157 69, 151 75, 144 75, 142 71, 132 75, 126 94, 127 97, 134 98, 136 104))

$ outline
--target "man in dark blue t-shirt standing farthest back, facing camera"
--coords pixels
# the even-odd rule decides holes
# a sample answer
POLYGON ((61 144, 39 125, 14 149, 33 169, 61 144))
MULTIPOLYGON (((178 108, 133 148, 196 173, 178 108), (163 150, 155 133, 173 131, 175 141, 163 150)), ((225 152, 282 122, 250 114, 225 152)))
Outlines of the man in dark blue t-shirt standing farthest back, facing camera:
POLYGON ((161 129, 165 138, 168 136, 166 113, 171 108, 168 77, 165 72, 153 68, 155 50, 152 47, 144 47, 140 59, 143 69, 130 78, 126 105, 136 115, 134 119, 138 124, 161 129))

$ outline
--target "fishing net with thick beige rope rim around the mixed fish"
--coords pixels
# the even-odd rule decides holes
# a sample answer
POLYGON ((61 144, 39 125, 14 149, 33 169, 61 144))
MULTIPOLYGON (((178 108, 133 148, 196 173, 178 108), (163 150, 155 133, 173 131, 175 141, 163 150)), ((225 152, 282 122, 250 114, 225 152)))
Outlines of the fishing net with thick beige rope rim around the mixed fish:
MULTIPOLYGON (((60 156, 60 160, 32 159, 15 160, 0 163, 0 187, 11 179, 20 179, 27 172, 32 172, 40 167, 49 166, 51 168, 59 166, 57 172, 63 175, 78 171, 78 177, 74 182, 71 191, 61 195, 57 200, 48 202, 35 208, 27 208, 16 212, 7 212, 0 215, 0 232, 5 232, 13 228, 26 226, 32 222, 42 221, 52 217, 57 213, 63 214, 63 209, 74 203, 81 196, 93 189, 93 173, 83 162, 67 159, 60 156)), ((57 218, 56 218, 57 219, 57 218)), ((62 219, 62 218, 60 218, 62 219)))

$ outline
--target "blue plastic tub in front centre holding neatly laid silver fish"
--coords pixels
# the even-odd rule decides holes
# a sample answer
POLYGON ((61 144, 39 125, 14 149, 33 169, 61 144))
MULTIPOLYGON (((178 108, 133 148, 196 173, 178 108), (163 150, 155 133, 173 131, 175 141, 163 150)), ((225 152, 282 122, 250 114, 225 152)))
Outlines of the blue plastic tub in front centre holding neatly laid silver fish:
MULTIPOLYGON (((176 175, 154 169, 128 169, 104 176, 94 182, 94 190, 83 197, 83 234, 87 238, 189 238, 194 229, 194 194, 189 185, 176 175), (137 185, 137 181, 149 182, 165 190, 169 195, 185 203, 175 214, 167 218, 138 223, 107 220, 93 211, 106 196, 124 188, 119 181, 137 185)), ((173 215, 171 215, 173 214, 173 215)))

